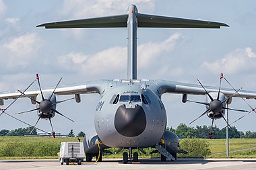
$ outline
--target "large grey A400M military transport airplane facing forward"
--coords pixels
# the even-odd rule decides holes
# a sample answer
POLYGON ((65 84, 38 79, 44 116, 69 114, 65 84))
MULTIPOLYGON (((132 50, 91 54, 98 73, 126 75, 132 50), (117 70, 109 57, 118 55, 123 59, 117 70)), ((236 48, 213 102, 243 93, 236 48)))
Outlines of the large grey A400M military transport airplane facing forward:
MULTIPOLYGON (((57 95, 75 95, 75 101, 79 103, 81 95, 98 93, 101 98, 96 105, 94 117, 96 134, 86 135, 84 138, 86 161, 92 161, 92 157, 95 156, 101 160, 100 151, 106 151, 106 148, 119 148, 117 153, 125 150, 123 163, 137 162, 138 151, 146 153, 143 148, 150 147, 156 148, 156 152, 160 153, 161 161, 166 161, 166 158, 176 160, 177 153, 184 151, 179 148, 177 134, 166 130, 166 109, 161 98, 164 93, 181 94, 183 102, 189 101, 188 95, 205 95, 206 102, 192 102, 206 105, 206 111, 201 116, 207 114, 212 120, 224 118, 224 111, 229 109, 226 108, 226 103, 230 104, 232 97, 256 98, 256 91, 206 87, 199 80, 199 85, 197 85, 158 79, 137 79, 137 28, 228 27, 224 23, 148 15, 139 13, 135 5, 129 5, 124 15, 51 22, 37 27, 46 29, 127 28, 127 79, 106 79, 65 85, 65 87, 56 86, 53 89, 42 90, 40 88, 38 91, 0 93, 0 105, 4 104, 4 99, 30 97, 32 103, 37 103, 35 110, 38 110, 39 119, 49 120, 55 116, 55 113, 58 113, 56 110, 57 95), (98 146, 99 143, 100 146, 98 146)), ((37 79, 40 87, 38 75, 37 79)))

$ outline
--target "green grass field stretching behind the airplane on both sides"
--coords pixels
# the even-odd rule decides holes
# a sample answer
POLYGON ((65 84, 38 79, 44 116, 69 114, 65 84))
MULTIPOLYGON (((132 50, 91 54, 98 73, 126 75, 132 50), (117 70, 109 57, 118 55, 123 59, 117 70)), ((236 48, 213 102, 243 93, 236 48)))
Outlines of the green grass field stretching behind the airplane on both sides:
MULTIPOLYGON (((82 139, 83 140, 83 139, 82 139)), ((81 141, 82 141, 81 140, 81 141)), ((210 143, 211 158, 226 157, 226 139, 205 139, 210 143), (220 154, 219 154, 220 153, 220 154), (222 153, 222 154, 221 154, 222 153)), ((67 137, 18 137, 0 136, 0 159, 57 159, 61 142, 78 141, 77 138, 67 137)), ((230 139, 230 157, 234 158, 256 158, 256 148, 248 151, 237 151, 256 146, 256 139, 230 139)), ((117 149, 112 148, 111 151, 117 149)), ((146 149, 147 153, 152 148, 146 149)), ((139 152, 139 157, 158 157, 154 155, 143 155, 139 152)), ((104 155, 108 158, 121 158, 119 155, 104 155)), ((183 157, 183 155, 178 155, 183 157)))

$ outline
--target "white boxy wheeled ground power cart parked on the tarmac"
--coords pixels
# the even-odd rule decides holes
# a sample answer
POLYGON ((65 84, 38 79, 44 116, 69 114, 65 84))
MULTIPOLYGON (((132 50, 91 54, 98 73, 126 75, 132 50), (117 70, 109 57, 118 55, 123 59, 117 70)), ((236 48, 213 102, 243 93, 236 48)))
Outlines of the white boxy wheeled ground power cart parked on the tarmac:
POLYGON ((61 165, 64 163, 77 163, 82 165, 84 161, 84 144, 82 142, 61 142, 61 148, 59 149, 59 161, 61 165))

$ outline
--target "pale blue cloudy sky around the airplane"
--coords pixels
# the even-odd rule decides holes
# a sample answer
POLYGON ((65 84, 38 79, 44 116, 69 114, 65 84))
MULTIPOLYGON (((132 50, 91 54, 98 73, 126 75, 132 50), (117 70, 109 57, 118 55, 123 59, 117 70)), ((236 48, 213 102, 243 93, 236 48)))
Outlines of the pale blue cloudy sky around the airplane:
MULTIPOLYGON (((236 87, 256 91, 256 3, 246 1, 171 1, 171 0, 73 0, 13 1, 0 0, 0 91, 25 89, 40 75, 43 88, 83 83, 98 79, 127 78, 127 29, 59 29, 36 28, 46 22, 84 19, 124 14, 130 4, 139 13, 202 19, 223 22, 221 29, 139 28, 137 40, 137 78, 164 79, 218 87, 220 73, 236 87)), ((223 81, 222 87, 230 88, 223 81)), ((38 89, 34 83, 30 89, 38 89)), ((72 96, 57 96, 58 100, 72 96)), ((59 103, 57 110, 75 123, 56 115, 55 132, 75 134, 94 130, 94 110, 100 96, 82 95, 82 102, 59 103)), ((205 112, 204 105, 182 103, 182 95, 164 94, 167 126, 177 128, 189 124, 205 112)), ((189 99, 205 101, 205 96, 189 95, 189 99)), ((4 108, 12 100, 6 100, 4 108)), ((248 100, 255 108, 256 101, 248 100)), ((230 108, 250 110, 242 99, 232 99, 230 108)), ((35 124, 36 112, 30 99, 18 99, 7 113, 29 124, 35 124)), ((229 112, 233 122, 243 113, 229 112)), ((254 131, 256 114, 251 113, 234 126, 243 132, 254 131)), ((190 126, 210 126, 212 120, 203 116, 190 126)), ((219 128, 224 120, 214 122, 219 128)), ((3 114, 0 130, 26 128, 25 124, 3 114)), ((40 120, 38 128, 51 132, 49 121, 40 120)))

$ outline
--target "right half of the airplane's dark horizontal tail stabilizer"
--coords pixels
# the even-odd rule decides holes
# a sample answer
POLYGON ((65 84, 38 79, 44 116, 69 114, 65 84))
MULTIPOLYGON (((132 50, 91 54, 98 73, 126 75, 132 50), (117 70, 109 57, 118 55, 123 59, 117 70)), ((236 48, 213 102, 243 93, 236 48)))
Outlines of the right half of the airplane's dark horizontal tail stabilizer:
POLYGON ((207 22, 179 17, 164 17, 158 15, 137 14, 138 27, 141 28, 220 28, 227 24, 220 22, 207 22))

